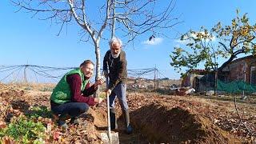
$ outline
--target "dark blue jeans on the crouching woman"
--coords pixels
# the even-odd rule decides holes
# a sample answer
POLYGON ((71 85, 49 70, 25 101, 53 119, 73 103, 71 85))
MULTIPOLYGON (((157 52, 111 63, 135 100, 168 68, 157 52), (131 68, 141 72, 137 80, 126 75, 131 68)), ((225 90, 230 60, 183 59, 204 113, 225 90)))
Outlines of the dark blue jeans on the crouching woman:
POLYGON ((68 102, 51 107, 54 114, 69 114, 71 117, 78 117, 80 114, 85 113, 88 109, 89 106, 85 102, 68 102))

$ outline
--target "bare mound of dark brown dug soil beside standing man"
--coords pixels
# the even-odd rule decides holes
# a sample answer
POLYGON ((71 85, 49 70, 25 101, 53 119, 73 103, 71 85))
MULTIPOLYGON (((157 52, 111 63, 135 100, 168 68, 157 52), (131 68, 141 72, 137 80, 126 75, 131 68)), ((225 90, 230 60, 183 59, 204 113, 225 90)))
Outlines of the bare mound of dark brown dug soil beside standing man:
POLYGON ((226 131, 214 126, 208 118, 190 114, 181 107, 159 104, 142 106, 131 113, 134 126, 147 135, 150 142, 234 143, 226 131))

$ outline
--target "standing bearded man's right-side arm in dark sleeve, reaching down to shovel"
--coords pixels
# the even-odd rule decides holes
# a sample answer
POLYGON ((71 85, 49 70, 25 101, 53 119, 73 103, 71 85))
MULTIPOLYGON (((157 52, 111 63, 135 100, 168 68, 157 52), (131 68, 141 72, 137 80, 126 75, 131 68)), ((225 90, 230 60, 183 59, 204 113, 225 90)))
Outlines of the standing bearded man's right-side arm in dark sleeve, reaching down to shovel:
POLYGON ((123 52, 122 58, 120 56, 120 67, 118 69, 118 78, 113 83, 111 82, 109 86, 109 89, 111 91, 114 89, 115 86, 118 85, 119 82, 122 81, 122 76, 123 74, 125 74, 126 66, 127 66, 126 53, 123 52))

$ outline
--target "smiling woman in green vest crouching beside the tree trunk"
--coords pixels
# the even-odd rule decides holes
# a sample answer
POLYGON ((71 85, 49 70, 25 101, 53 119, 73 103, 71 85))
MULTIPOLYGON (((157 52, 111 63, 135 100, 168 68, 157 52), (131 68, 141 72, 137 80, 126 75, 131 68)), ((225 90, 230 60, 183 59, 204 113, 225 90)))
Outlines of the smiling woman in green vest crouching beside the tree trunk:
POLYGON ((78 69, 70 70, 55 86, 50 97, 51 110, 58 118, 58 125, 67 129, 66 118, 70 123, 78 124, 78 116, 85 113, 89 106, 100 103, 101 98, 89 97, 104 82, 97 80, 90 86, 90 78, 94 72, 94 63, 90 60, 82 62, 78 69))

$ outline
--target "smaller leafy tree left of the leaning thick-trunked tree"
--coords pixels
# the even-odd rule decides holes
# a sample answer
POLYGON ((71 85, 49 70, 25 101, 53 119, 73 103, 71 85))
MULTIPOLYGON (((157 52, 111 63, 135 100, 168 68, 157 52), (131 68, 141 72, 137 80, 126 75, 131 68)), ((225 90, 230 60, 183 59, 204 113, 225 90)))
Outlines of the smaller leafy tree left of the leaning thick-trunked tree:
POLYGON ((214 35, 212 31, 208 31, 201 27, 199 32, 190 30, 186 34, 183 34, 180 38, 180 42, 186 44, 184 47, 174 47, 174 51, 170 54, 172 62, 171 66, 174 66, 178 72, 182 71, 182 67, 186 67, 188 70, 192 70, 201 62, 204 62, 206 70, 216 70, 218 63, 219 49, 215 49, 214 35))

